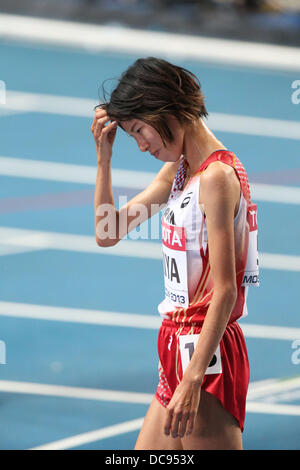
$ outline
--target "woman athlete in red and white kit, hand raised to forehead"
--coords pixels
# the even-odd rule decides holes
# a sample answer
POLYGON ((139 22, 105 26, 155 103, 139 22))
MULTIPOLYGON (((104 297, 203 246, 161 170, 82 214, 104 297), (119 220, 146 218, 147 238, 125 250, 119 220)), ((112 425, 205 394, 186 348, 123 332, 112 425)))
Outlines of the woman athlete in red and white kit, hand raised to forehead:
POLYGON ((164 205, 159 384, 137 450, 242 449, 249 363, 237 319, 247 313, 248 287, 259 282, 256 205, 243 165, 206 116, 197 77, 148 57, 123 73, 91 126, 99 246, 115 245, 142 222, 135 207, 143 205, 146 220, 164 205), (164 162, 119 210, 111 177, 118 126, 164 162))

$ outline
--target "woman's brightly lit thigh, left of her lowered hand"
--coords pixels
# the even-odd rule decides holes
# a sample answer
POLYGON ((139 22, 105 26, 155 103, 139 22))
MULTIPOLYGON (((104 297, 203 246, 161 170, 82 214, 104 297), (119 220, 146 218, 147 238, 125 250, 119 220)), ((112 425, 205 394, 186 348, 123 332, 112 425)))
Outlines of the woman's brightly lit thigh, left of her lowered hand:
POLYGON ((182 450, 181 439, 166 436, 166 409, 153 398, 136 441, 135 450, 182 450))

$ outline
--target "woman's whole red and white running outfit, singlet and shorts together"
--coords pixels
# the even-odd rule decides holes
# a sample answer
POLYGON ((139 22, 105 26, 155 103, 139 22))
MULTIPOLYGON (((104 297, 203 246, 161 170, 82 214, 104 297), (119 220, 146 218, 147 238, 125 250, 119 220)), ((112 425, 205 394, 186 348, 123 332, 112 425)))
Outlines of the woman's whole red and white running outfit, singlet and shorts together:
POLYGON ((165 407, 170 402, 195 350, 213 296, 205 208, 199 206, 199 193, 200 175, 215 161, 234 168, 241 186, 239 210, 234 218, 237 300, 202 389, 217 397, 243 430, 249 362, 236 320, 247 315, 248 287, 259 285, 257 207, 251 202, 243 165, 227 150, 211 154, 184 189, 186 163, 182 158, 162 215, 165 298, 158 306, 164 320, 158 335, 160 381, 156 398, 165 407))

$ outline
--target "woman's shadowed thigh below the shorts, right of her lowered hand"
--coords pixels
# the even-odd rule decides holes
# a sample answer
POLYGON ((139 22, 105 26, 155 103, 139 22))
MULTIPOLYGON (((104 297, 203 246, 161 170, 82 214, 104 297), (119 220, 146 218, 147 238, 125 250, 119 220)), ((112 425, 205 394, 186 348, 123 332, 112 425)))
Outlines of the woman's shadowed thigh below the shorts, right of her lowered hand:
POLYGON ((193 432, 182 438, 182 446, 187 450, 242 450, 242 432, 236 419, 221 402, 201 390, 193 432))

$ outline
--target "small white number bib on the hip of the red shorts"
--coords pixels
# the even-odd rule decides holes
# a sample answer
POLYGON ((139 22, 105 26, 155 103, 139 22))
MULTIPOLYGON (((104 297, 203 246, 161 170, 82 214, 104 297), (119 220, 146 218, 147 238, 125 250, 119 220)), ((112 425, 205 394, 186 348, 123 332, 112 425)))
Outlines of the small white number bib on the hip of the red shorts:
MULTIPOLYGON (((194 351, 196 349, 199 336, 200 336, 199 334, 179 336, 179 348, 180 348, 183 374, 190 360, 192 359, 192 355, 194 354, 194 351)), ((220 346, 218 346, 215 354, 213 355, 212 360, 210 361, 208 368, 206 369, 205 375, 221 374, 221 373, 222 373, 221 352, 220 352, 220 346)))

